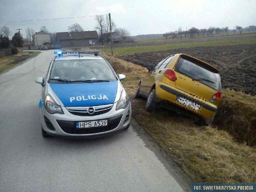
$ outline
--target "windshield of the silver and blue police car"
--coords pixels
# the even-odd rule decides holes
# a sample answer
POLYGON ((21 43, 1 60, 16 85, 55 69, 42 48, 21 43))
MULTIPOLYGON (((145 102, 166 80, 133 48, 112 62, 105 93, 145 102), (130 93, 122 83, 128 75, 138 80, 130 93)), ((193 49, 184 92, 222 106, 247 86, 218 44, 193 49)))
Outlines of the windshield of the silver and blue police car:
MULTIPOLYGON (((67 80, 72 82, 109 82, 115 81, 116 76, 105 60, 57 60, 52 64, 50 73, 52 82, 67 80)), ((62 82, 65 83, 65 82, 62 82)))

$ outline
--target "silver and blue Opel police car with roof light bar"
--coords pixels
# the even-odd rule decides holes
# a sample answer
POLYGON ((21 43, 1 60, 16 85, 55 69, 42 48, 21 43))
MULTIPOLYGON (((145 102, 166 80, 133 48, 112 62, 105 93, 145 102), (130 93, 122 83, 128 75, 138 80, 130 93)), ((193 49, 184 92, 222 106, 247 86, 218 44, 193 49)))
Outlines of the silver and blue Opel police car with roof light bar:
POLYGON ((100 51, 58 51, 42 85, 42 136, 91 137, 127 129, 131 103, 121 80, 100 51))

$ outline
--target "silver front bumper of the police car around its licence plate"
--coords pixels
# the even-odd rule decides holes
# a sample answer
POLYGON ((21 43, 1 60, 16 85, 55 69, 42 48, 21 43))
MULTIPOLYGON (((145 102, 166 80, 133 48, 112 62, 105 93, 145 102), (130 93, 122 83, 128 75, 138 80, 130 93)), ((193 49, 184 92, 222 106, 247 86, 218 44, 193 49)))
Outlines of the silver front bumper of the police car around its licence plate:
POLYGON ((49 114, 44 106, 40 108, 40 121, 42 128, 53 136, 66 137, 94 137, 110 134, 126 128, 130 124, 132 108, 129 104, 126 109, 116 110, 114 103, 111 110, 105 114, 96 116, 77 116, 71 114, 62 106, 64 114, 49 114), (108 126, 90 128, 88 133, 86 129, 76 129, 76 122, 108 120, 108 126))

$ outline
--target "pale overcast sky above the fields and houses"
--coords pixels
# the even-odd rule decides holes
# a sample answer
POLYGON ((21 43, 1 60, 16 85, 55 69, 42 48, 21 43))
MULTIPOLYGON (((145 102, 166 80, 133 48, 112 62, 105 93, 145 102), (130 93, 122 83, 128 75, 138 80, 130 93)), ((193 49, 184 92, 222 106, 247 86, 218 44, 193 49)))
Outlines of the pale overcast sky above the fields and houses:
POLYGON ((78 22, 84 30, 94 30, 93 17, 63 20, 7 22, 111 14, 118 27, 132 36, 165 33, 186 28, 256 25, 256 0, 0 0, 0 27, 12 31, 46 26, 50 32, 66 32, 78 22))

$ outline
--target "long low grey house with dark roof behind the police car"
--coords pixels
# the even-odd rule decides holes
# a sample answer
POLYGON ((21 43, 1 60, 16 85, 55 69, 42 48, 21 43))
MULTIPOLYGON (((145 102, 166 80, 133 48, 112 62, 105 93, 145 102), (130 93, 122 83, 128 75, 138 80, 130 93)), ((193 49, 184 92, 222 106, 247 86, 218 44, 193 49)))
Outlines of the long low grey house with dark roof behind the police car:
POLYGON ((57 44, 60 47, 80 47, 98 44, 97 31, 58 32, 57 44))

